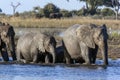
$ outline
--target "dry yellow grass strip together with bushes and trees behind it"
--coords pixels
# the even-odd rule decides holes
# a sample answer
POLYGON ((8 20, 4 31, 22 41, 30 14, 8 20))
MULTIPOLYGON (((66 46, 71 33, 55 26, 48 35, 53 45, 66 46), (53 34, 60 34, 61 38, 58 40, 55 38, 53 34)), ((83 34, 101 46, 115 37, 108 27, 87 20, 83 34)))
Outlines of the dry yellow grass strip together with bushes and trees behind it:
MULTIPOLYGON (((31 11, 23 13, 16 12, 11 16, 1 13, 0 21, 12 24, 14 27, 62 27, 66 28, 74 24, 90 24, 97 25, 106 24, 110 28, 119 28, 120 23, 115 19, 115 12, 110 8, 98 9, 98 6, 111 6, 111 0, 79 0, 86 1, 86 6, 89 9, 94 9, 97 13, 90 16, 88 9, 81 8, 80 10, 68 11, 60 9, 52 3, 48 3, 44 8, 36 6, 31 11), (107 2, 101 2, 107 1, 107 2), (110 3, 110 4, 109 4, 110 3), (50 18, 51 13, 61 13, 62 17, 50 18)), ((115 4, 114 4, 115 5, 115 4)), ((93 11, 94 12, 94 11, 93 11)), ((92 13, 91 13, 92 14, 92 13)), ((119 19, 119 18, 118 18, 119 19)))

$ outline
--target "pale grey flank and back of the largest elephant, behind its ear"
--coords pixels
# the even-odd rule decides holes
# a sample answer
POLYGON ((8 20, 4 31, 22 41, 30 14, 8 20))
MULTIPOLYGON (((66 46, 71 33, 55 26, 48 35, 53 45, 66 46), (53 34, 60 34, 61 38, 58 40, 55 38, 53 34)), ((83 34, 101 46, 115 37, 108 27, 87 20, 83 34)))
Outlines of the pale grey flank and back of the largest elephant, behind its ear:
POLYGON ((63 34, 63 46, 66 50, 66 55, 69 55, 71 58, 81 57, 79 41, 76 36, 76 29, 79 28, 79 24, 75 24, 69 27, 63 34))

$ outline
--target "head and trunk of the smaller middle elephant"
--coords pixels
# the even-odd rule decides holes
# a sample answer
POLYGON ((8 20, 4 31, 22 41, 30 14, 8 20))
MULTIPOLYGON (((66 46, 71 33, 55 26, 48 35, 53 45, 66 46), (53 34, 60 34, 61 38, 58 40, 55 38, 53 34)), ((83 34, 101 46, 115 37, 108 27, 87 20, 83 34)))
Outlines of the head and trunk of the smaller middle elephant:
MULTIPOLYGON (((49 54, 52 55, 52 62, 55 63, 55 59, 56 59, 56 40, 54 37, 52 36, 47 36, 47 35, 38 35, 36 37, 37 39, 35 40, 39 40, 37 41, 37 45, 38 45, 38 51, 45 53, 47 55, 47 59, 46 61, 51 61, 50 57, 48 56, 49 54)), ((35 41, 36 42, 36 41, 35 41)), ((46 62, 45 61, 45 62, 46 62)), ((48 63, 48 62, 46 62, 48 63)))

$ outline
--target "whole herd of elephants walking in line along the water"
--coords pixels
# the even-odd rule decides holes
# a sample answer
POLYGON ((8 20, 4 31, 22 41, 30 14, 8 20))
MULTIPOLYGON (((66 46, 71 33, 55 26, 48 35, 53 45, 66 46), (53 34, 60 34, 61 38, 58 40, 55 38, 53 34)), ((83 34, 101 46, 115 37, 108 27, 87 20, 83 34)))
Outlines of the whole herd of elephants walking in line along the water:
POLYGON ((62 45, 56 47, 54 36, 29 32, 19 37, 15 45, 14 28, 0 23, 0 52, 4 61, 22 63, 95 64, 100 49, 103 64, 108 65, 108 34, 106 25, 75 24, 63 32, 62 45))

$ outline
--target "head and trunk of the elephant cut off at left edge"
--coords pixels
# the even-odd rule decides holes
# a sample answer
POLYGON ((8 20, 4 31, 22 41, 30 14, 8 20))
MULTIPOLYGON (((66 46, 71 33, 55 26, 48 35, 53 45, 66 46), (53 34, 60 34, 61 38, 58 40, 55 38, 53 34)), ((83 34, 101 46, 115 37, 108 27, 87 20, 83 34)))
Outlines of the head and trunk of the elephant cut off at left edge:
POLYGON ((15 32, 13 27, 9 24, 1 25, 0 36, 1 36, 2 42, 6 44, 7 49, 11 52, 13 60, 16 60, 15 43, 14 43, 15 32))

